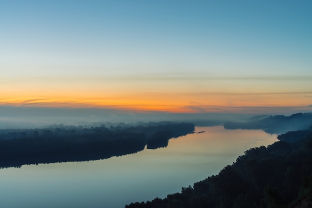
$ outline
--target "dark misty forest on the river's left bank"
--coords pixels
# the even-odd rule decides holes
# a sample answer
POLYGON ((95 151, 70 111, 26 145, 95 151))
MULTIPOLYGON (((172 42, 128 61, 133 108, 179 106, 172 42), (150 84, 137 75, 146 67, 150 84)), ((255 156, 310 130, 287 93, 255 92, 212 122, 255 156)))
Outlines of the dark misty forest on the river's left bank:
POLYGON ((0 130, 0 168, 25 164, 106 159, 166 147, 168 140, 192 133, 192 123, 154 123, 147 126, 0 130))

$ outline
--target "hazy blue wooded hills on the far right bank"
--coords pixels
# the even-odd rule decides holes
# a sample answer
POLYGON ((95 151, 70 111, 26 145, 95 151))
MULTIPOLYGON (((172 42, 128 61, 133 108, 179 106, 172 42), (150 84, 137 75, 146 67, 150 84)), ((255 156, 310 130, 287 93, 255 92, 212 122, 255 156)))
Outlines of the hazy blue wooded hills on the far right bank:
POLYGON ((244 122, 225 122, 226 129, 262 129, 267 133, 286 133, 304 130, 312 125, 312 113, 296 113, 291 116, 255 116, 244 122))

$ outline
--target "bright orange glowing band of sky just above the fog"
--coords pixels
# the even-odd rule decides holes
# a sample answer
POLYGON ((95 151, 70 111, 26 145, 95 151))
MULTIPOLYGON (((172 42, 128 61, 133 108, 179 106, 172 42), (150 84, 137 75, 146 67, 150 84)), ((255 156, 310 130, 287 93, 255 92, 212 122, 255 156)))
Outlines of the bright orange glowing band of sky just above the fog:
POLYGON ((244 107, 309 106, 310 99, 297 94, 129 94, 107 97, 43 97, 10 96, 0 99, 0 105, 109 108, 132 111, 163 111, 172 113, 201 113, 243 111, 244 107), (304 99, 303 99, 304 98, 304 99), (190 102, 192 101, 192 102, 190 102))

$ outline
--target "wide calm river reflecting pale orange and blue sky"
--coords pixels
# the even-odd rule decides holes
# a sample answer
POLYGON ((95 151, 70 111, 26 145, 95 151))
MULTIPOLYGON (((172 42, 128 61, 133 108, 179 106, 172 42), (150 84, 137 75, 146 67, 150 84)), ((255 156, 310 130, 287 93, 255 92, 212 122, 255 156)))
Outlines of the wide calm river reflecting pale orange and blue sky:
POLYGON ((262 130, 195 127, 166 148, 89 162, 0 169, 1 208, 124 208, 218 174, 244 151, 277 141, 262 130))

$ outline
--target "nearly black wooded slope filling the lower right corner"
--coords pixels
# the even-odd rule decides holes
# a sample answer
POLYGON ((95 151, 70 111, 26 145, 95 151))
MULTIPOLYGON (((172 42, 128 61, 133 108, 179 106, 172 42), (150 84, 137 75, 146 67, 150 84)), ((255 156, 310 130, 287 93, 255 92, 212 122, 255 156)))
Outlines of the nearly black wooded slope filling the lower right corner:
POLYGON ((312 127, 279 139, 181 193, 126 208, 312 208, 312 127))

